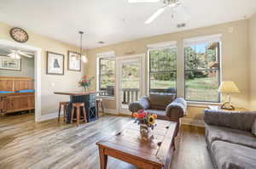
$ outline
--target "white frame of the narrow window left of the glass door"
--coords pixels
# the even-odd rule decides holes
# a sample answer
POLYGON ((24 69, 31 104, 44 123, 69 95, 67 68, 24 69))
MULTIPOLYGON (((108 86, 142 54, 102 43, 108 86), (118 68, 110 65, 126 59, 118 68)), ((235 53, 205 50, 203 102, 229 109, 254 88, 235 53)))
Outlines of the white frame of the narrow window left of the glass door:
MULTIPOLYGON (((96 58, 96 91, 100 91, 101 87, 101 59, 106 59, 106 58, 113 58, 114 60, 114 91, 116 91, 116 56, 114 51, 109 51, 109 52, 104 52, 101 54, 97 54, 96 58)), ((114 92, 113 96, 102 96, 99 93, 97 93, 97 97, 102 98, 102 99, 115 99, 116 93, 114 92)))

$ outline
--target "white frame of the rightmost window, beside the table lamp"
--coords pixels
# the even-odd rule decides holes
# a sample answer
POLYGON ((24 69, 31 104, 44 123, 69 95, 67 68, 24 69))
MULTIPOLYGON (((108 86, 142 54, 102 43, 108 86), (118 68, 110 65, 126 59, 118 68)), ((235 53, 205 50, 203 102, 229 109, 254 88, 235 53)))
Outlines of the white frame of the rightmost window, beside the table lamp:
MULTIPOLYGON (((212 36, 207 36, 209 38, 211 37, 218 37, 220 38, 221 35, 212 35, 212 36)), ((222 82, 222 41, 221 39, 218 39, 218 40, 208 40, 207 41, 207 37, 205 37, 204 39, 204 42, 207 43, 207 42, 218 42, 218 69, 201 69, 201 70, 198 70, 198 71, 209 71, 209 70, 218 70, 218 87, 219 85, 221 84, 222 82)), ((201 39, 201 37, 196 37, 198 39, 201 39)), ((183 42, 185 42, 187 40, 183 40, 183 42)), ((202 44, 203 42, 199 42, 198 44, 202 44)), ((183 43, 183 92, 184 92, 184 99, 186 99, 186 71, 193 71, 193 70, 186 70, 186 52, 185 52, 185 48, 187 48, 187 46, 184 45, 183 43)), ((207 56, 207 51, 206 51, 206 56, 207 56)), ((221 103, 221 99, 222 99, 222 96, 221 96, 221 93, 218 93, 218 101, 214 102, 214 101, 206 101, 206 100, 189 100, 189 99, 186 99, 186 101, 188 101, 188 103, 190 104, 220 104, 221 103)))

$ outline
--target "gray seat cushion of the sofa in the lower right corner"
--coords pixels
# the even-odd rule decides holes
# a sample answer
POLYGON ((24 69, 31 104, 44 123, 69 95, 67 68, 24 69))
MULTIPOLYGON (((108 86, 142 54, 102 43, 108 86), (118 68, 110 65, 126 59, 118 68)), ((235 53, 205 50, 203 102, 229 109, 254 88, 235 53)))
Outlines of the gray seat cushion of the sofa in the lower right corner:
POLYGON ((256 149, 240 144, 215 141, 211 147, 218 169, 255 169, 256 149))

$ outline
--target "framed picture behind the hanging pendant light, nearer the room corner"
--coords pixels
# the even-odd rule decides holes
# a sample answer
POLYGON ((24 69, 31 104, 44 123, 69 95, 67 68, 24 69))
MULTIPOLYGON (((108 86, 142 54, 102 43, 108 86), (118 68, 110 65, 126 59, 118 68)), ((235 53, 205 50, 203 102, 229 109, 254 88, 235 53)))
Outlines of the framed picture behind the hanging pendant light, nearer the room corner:
POLYGON ((67 70, 81 71, 81 55, 76 52, 67 52, 67 70))

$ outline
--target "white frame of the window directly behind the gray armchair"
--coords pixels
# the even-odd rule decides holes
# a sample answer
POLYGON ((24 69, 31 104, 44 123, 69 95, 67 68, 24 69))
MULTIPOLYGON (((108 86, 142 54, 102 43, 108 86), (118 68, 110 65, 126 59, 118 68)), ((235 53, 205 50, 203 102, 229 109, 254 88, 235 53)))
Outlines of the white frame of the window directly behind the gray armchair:
MULTIPOLYGON (((176 74, 176 82, 175 82, 175 89, 176 89, 176 95, 177 95, 177 43, 176 42, 172 42, 172 45, 168 45, 168 46, 163 46, 163 47, 159 47, 159 44, 166 44, 166 42, 162 42, 162 43, 156 43, 155 48, 148 48, 148 95, 150 94, 150 76, 151 76, 151 65, 150 65, 150 51, 153 50, 160 50, 160 49, 165 49, 165 48, 176 48, 176 70, 169 70, 169 71, 165 71, 167 72, 174 72, 176 74)), ((153 44, 154 45, 154 44, 153 44)), ((150 45, 151 47, 153 45, 150 45)), ((149 46, 149 45, 148 45, 149 46)), ((159 72, 159 71, 158 71, 159 72)))

